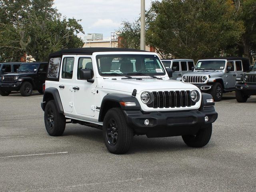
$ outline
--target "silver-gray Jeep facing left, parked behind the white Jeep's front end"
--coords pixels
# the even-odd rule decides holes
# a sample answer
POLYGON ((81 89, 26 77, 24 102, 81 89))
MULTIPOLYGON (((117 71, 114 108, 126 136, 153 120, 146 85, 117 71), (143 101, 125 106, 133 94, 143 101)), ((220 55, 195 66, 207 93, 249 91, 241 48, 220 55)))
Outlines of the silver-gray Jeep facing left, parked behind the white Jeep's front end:
POLYGON ((249 71, 250 62, 241 57, 220 57, 198 60, 190 73, 177 80, 196 85, 202 92, 212 95, 214 101, 222 99, 223 92, 236 90, 236 78, 249 71))

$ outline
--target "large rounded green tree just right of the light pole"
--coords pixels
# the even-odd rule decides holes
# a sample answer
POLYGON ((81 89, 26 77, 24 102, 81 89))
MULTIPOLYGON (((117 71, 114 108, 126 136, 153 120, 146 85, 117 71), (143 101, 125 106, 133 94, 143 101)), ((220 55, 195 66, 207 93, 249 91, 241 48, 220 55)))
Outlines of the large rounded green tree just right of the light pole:
POLYGON ((152 2, 154 20, 148 42, 176 58, 206 58, 220 52, 244 32, 234 20, 235 6, 226 0, 162 0, 152 2))

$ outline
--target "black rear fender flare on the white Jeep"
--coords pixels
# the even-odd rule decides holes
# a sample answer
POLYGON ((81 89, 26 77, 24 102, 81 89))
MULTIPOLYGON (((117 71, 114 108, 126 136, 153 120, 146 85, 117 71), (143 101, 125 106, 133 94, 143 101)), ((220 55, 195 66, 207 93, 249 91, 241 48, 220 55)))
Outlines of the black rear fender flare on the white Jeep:
POLYGON ((64 110, 63 110, 62 102, 61 102, 61 99, 60 99, 59 91, 58 91, 57 88, 54 88, 54 87, 46 88, 44 90, 43 102, 41 103, 42 110, 45 109, 45 106, 46 106, 47 102, 52 100, 52 99, 55 100, 58 112, 64 114, 64 110))

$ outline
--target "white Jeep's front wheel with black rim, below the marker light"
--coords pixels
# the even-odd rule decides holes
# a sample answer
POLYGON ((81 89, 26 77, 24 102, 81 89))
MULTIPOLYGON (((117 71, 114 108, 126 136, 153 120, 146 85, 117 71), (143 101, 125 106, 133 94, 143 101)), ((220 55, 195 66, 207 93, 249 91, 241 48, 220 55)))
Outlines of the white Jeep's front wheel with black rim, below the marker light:
POLYGON ((109 152, 113 154, 126 153, 133 140, 133 130, 124 118, 120 108, 108 110, 103 121, 103 138, 109 152))

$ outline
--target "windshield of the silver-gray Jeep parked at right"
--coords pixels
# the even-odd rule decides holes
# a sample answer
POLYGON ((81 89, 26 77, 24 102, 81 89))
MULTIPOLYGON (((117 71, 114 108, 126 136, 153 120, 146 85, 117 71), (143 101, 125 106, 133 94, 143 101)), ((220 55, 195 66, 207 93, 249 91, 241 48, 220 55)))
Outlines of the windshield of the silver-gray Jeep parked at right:
POLYGON ((226 61, 221 60, 206 60, 198 61, 196 70, 224 70, 226 61))

